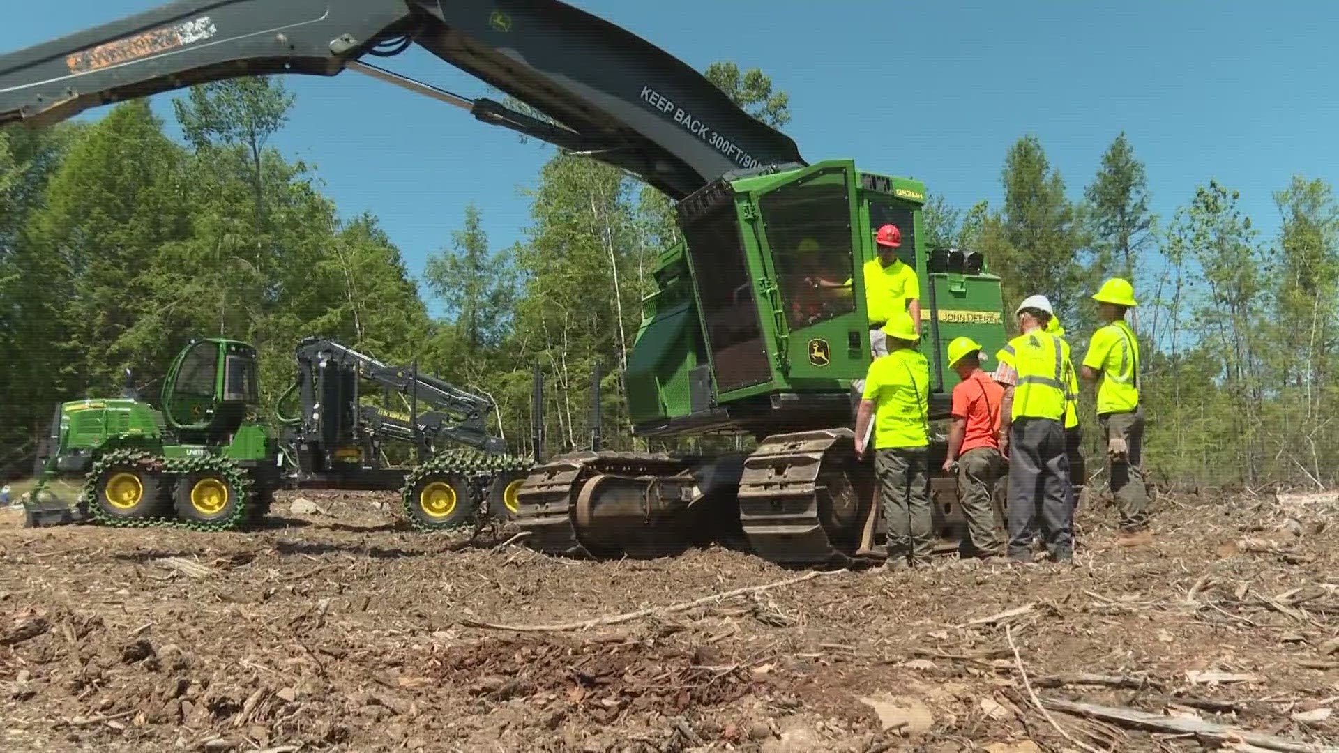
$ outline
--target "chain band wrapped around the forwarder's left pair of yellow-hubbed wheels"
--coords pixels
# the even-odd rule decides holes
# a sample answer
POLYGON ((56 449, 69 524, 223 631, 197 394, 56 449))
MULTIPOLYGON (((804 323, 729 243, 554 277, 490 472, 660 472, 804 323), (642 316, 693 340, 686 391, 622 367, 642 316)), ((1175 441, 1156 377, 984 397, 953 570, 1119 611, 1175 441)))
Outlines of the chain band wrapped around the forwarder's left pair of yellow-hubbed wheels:
MULTIPOLYGON (((170 488, 169 488, 170 489, 170 488)), ((170 492, 169 492, 170 493, 170 492)), ((165 458, 139 449, 111 450, 96 461, 84 476, 83 493, 79 504, 84 505, 92 519, 100 525, 111 528, 181 528, 187 531, 238 531, 248 523, 246 510, 252 505, 252 480, 237 461, 218 456, 197 456, 187 458, 165 458), (102 510, 98 504, 98 477, 112 465, 135 465, 150 473, 158 474, 163 482, 171 476, 185 476, 201 470, 213 470, 228 480, 232 488, 240 493, 241 502, 233 508, 233 515, 226 520, 209 523, 195 520, 181 520, 173 517, 112 517, 102 510)))

